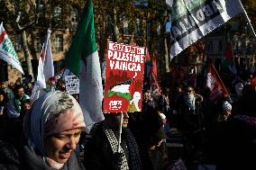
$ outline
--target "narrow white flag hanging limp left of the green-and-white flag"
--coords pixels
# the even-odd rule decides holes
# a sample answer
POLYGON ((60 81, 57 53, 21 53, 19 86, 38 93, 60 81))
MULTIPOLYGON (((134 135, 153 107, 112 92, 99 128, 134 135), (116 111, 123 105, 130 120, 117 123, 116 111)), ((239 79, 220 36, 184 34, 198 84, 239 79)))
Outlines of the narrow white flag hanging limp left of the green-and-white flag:
POLYGON ((50 46, 50 30, 47 31, 46 40, 41 49, 41 57, 38 63, 37 80, 32 89, 32 101, 44 94, 46 83, 50 77, 54 76, 53 59, 50 46))

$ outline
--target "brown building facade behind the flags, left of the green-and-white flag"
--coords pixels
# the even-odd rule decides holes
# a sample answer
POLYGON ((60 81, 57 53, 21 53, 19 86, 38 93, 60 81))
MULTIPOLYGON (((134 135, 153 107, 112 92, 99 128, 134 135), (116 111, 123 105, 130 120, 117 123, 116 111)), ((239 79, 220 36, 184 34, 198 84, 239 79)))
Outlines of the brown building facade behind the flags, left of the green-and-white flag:
MULTIPOLYGON (((14 49, 16 49, 25 73, 23 76, 28 76, 26 62, 28 57, 24 52, 28 49, 32 63, 32 73, 36 78, 38 58, 41 56, 41 49, 48 29, 51 31, 50 41, 55 72, 58 73, 60 68, 63 67, 65 53, 69 49, 72 35, 77 29, 84 3, 78 0, 32 0, 28 1, 25 7, 5 0, 0 1, 0 3, 0 20, 13 42, 14 49), (23 29, 20 29, 15 22, 19 12, 21 13, 19 26, 24 27, 23 29), (23 31, 25 37, 23 37, 23 31), (26 44, 24 45, 24 43, 26 44)), ((4 60, 0 60, 0 75, 0 81, 8 82, 15 82, 22 77, 19 71, 8 65, 4 60)))

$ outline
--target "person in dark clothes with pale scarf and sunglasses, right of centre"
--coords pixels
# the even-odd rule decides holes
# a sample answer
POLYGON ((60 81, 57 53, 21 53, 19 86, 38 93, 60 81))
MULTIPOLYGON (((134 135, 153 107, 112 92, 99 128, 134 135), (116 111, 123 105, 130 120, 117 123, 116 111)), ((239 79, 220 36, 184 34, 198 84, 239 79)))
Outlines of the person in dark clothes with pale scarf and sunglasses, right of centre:
POLYGON ((185 146, 185 156, 187 156, 187 167, 192 164, 193 157, 197 149, 200 147, 202 135, 202 114, 201 103, 204 98, 200 94, 196 94, 192 85, 187 85, 185 93, 178 100, 178 130, 183 137, 183 145, 185 146))

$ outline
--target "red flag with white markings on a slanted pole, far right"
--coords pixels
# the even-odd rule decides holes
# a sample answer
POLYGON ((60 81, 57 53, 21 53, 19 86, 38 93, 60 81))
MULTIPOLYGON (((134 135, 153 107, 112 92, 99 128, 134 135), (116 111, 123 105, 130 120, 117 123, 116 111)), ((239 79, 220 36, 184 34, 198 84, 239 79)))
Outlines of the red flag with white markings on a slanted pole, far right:
POLYGON ((229 95, 228 90, 212 64, 208 67, 206 88, 210 90, 210 101, 217 101, 225 95, 229 95))

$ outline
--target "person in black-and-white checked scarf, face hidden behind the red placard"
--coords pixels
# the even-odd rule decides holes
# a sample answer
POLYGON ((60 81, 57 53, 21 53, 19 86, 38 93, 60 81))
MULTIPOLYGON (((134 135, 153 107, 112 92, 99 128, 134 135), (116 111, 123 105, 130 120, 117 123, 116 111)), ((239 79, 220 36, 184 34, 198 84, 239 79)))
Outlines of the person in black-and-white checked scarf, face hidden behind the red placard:
POLYGON ((85 145, 84 165, 87 169, 134 169, 141 170, 140 151, 128 128, 129 115, 123 112, 120 150, 118 151, 121 112, 105 113, 105 120, 100 121, 91 131, 91 139, 85 145))

